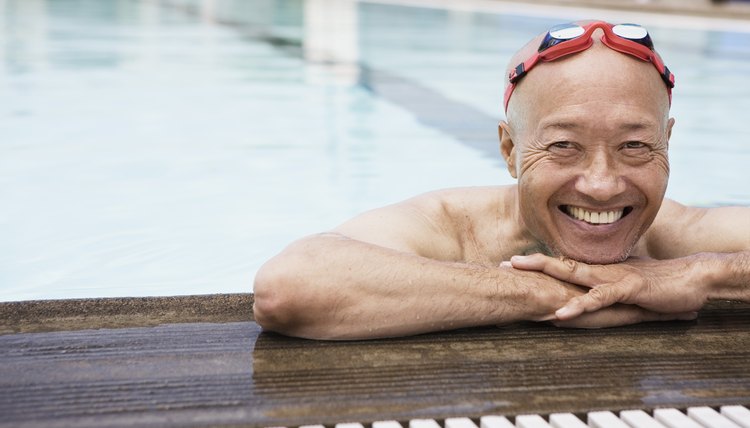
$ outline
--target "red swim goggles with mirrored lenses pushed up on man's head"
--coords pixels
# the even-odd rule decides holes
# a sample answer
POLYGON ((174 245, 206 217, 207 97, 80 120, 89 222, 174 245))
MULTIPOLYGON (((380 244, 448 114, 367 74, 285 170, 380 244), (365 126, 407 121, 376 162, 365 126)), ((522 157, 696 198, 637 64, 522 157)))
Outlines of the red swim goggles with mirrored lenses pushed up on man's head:
POLYGON ((585 51, 594 44, 591 36, 597 28, 604 31, 601 40, 610 49, 634 56, 642 61, 648 61, 656 67, 662 80, 667 85, 667 93, 671 104, 674 74, 669 71, 659 54, 654 51, 654 44, 648 35, 648 31, 637 24, 613 25, 603 21, 595 21, 584 26, 570 23, 552 27, 544 36, 538 52, 511 70, 508 76, 510 84, 505 88, 503 100, 505 111, 508 111, 510 96, 518 81, 531 71, 539 61, 554 61, 566 55, 585 51))

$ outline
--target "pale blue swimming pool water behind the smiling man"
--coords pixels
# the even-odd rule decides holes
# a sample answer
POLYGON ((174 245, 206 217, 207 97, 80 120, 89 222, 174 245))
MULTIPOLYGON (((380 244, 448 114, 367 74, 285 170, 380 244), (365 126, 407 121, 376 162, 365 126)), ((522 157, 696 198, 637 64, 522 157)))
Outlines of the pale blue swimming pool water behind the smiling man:
MULTIPOLYGON (((505 62, 582 12, 459 4, 0 1, 0 301, 249 292, 295 238, 511 183, 505 62)), ((668 196, 750 204, 750 24, 597 17, 677 76, 668 196)))

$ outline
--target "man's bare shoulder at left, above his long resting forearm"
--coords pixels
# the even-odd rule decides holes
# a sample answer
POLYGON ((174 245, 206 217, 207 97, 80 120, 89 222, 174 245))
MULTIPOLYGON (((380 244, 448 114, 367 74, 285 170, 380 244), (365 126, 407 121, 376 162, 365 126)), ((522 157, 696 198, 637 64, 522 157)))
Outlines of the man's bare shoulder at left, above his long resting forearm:
POLYGON ((504 187, 437 190, 363 213, 334 230, 353 239, 439 260, 463 260, 465 231, 494 224, 504 187))

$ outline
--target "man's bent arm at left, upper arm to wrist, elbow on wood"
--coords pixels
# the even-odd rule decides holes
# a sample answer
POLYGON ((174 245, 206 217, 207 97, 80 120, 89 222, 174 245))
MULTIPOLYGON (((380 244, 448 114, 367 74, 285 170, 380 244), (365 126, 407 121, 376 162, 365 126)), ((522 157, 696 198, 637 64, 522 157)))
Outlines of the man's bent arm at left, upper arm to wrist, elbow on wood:
POLYGON ((402 336, 549 319, 581 293, 535 272, 460 261, 450 220, 433 194, 297 241, 258 272, 256 321, 308 338, 402 336))

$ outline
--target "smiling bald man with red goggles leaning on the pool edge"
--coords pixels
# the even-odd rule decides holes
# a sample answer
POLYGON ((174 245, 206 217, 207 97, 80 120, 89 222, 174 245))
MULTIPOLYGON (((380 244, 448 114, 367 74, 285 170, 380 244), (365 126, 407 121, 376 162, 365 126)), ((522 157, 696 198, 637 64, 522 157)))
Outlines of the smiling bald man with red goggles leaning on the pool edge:
POLYGON ((664 200, 674 78, 652 48, 642 27, 604 22, 532 40, 499 125, 517 185, 437 191, 293 243, 257 274, 257 322, 353 339, 750 301, 750 208, 664 200))

